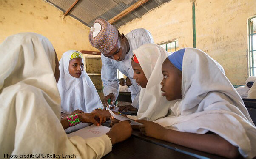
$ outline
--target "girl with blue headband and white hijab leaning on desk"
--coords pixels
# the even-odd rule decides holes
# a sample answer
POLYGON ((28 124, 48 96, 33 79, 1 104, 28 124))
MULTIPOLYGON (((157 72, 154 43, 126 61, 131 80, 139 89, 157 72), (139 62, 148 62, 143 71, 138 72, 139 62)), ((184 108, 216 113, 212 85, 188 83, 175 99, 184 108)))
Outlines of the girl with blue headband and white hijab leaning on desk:
POLYGON ((256 156, 255 125, 219 63, 186 48, 168 56, 162 74, 162 95, 179 101, 168 117, 137 120, 142 134, 228 158, 256 156))

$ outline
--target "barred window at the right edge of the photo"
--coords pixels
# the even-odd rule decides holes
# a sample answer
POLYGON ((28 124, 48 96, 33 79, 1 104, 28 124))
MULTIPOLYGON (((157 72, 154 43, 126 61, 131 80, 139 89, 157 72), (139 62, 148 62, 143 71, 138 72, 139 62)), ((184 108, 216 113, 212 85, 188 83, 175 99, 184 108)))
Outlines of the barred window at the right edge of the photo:
POLYGON ((248 41, 249 41, 249 74, 256 74, 256 16, 248 19, 248 41))

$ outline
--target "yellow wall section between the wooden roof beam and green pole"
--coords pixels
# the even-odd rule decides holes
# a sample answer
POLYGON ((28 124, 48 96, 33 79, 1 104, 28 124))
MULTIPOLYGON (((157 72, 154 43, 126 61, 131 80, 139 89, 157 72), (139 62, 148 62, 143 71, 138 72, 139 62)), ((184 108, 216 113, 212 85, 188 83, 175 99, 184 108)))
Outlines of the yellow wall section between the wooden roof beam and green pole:
POLYGON ((147 29, 157 44, 177 38, 180 47, 193 47, 192 3, 172 0, 118 30, 125 34, 137 28, 147 29))

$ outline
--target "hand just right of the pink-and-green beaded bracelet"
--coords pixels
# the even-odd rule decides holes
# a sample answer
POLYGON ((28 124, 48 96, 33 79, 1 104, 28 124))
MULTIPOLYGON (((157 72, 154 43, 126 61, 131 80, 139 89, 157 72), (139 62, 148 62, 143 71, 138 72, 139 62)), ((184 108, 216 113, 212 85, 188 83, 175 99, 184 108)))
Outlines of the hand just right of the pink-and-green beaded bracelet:
POLYGON ((78 118, 82 123, 93 123, 96 126, 100 126, 102 123, 106 122, 105 116, 96 113, 79 114, 78 118))

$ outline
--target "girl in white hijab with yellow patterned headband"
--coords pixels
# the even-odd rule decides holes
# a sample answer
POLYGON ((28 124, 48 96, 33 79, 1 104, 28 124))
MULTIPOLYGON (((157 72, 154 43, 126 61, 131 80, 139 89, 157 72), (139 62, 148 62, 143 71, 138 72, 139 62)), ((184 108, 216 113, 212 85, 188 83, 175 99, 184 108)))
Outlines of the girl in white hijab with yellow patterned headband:
MULTIPOLYGON (((60 79, 57 86, 61 97, 61 119, 76 113, 90 113, 94 109, 103 108, 93 82, 84 71, 84 60, 79 51, 64 52, 59 69, 60 79)), ((68 127, 65 132, 71 133, 89 125, 89 123, 79 123, 68 127)))

